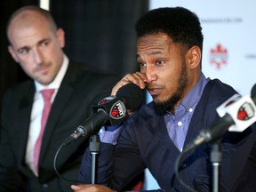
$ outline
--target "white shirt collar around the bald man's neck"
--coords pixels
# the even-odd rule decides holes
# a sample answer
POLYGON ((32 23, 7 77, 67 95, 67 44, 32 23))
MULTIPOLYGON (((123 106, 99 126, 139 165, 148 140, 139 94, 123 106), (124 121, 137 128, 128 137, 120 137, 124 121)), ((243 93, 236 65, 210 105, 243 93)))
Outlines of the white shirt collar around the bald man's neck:
POLYGON ((37 81, 34 81, 36 86, 36 92, 40 92, 41 90, 44 90, 44 89, 59 89, 62 79, 64 78, 66 71, 68 69, 68 62, 69 62, 68 57, 66 54, 64 54, 64 59, 63 59, 63 63, 61 65, 60 71, 58 72, 57 76, 53 79, 51 84, 48 84, 45 86, 43 84, 40 84, 37 81))

